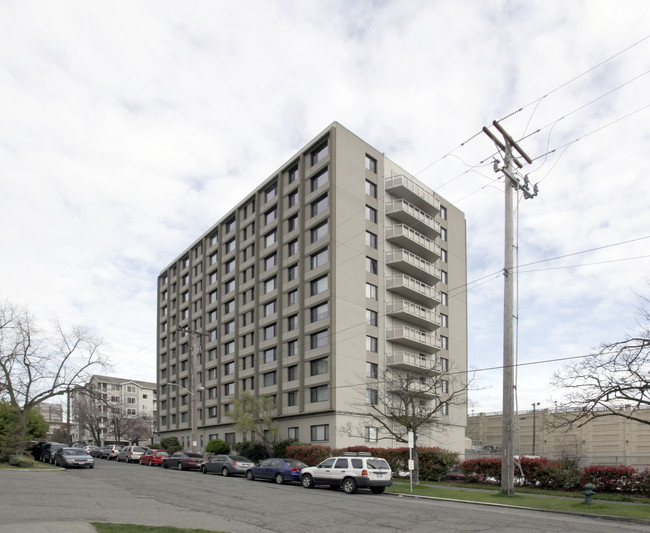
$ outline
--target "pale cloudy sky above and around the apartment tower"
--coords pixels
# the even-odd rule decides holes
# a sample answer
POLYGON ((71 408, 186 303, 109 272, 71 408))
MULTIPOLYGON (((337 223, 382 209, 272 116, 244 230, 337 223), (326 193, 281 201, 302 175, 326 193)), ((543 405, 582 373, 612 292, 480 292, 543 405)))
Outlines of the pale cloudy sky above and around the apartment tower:
POLYGON ((500 410, 499 120, 540 189, 519 407, 550 407, 540 362, 634 331, 650 292, 649 28, 646 0, 3 0, 0 299, 154 380, 158 273, 338 121, 465 212, 470 410, 500 410))

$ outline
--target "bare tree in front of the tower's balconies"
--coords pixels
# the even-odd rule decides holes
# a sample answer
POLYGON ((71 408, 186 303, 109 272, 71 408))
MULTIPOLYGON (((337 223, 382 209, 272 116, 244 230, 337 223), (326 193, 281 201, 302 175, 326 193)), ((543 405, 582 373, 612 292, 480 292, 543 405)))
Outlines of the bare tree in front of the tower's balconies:
MULTIPOLYGON (((426 431, 446 430, 449 407, 466 404, 472 379, 466 372, 450 369, 416 373, 395 368, 379 378, 365 383, 366 401, 358 405, 358 412, 397 442, 407 444, 409 432, 413 433, 413 481, 419 483, 418 437, 426 431)), ((351 427, 346 431, 361 436, 351 427)))

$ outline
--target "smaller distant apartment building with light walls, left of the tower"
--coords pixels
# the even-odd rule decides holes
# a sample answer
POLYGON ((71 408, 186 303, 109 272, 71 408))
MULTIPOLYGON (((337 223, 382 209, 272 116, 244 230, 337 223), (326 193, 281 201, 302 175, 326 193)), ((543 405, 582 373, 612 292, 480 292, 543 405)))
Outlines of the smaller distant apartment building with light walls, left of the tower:
MULTIPOLYGON (((115 421, 126 419, 142 419, 149 425, 149 433, 155 433, 157 393, 156 383, 150 381, 93 375, 85 387, 72 394, 72 440, 101 445, 128 444, 130 433, 146 433, 123 423, 124 434, 116 436, 115 421), (76 408, 78 401, 83 402, 83 409, 76 408), (100 442, 96 442, 88 428, 80 423, 78 418, 81 417, 97 425, 100 442)), ((141 443, 144 444, 144 439, 141 443)))

